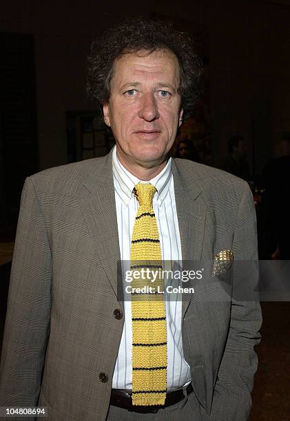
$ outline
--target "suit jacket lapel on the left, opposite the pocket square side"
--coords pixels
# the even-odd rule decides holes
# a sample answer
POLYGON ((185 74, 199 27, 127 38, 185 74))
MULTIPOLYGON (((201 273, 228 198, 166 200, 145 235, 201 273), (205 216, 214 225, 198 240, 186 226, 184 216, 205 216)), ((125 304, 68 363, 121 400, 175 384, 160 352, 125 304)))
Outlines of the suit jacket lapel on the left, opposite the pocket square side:
MULTIPOLYGON (((120 294, 117 289, 117 262, 121 258, 112 175, 112 151, 103 160, 92 160, 90 174, 83 186, 85 191, 80 202, 85 223, 94 241, 96 254, 117 297, 120 294)), ((121 301, 120 296, 118 301, 121 301)))

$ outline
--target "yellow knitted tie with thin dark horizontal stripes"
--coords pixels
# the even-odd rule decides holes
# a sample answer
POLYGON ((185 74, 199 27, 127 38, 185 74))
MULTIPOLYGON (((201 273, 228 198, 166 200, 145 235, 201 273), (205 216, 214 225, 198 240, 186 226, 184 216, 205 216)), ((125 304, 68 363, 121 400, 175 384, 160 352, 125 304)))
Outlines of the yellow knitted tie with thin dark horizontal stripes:
MULTIPOLYGON (((152 184, 136 184, 134 193, 139 207, 131 244, 131 269, 162 269, 158 227, 153 209, 156 188, 152 184)), ((133 276, 134 277, 134 276, 133 276)), ((167 387, 167 335, 163 279, 152 276, 132 281, 132 403, 163 405, 167 387), (146 292, 144 292, 144 287, 146 292), (147 293, 152 287, 153 293, 147 293), (143 293, 134 293, 134 288, 143 293)))

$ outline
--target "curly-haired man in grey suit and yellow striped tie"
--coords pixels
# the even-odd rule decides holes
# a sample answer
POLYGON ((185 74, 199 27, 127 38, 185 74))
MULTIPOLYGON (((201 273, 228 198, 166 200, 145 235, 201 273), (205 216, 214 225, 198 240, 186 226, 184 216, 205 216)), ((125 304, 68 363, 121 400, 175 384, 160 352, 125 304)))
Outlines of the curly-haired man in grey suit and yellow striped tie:
POLYGON ((260 306, 230 296, 256 273, 230 281, 230 295, 218 274, 222 256, 256 259, 253 199, 232 175, 169 158, 199 72, 168 25, 136 19, 94 43, 89 91, 116 149, 25 182, 1 405, 62 421, 247 420, 260 306), (121 301, 117 261, 154 257, 196 261, 207 276, 182 301, 121 301))

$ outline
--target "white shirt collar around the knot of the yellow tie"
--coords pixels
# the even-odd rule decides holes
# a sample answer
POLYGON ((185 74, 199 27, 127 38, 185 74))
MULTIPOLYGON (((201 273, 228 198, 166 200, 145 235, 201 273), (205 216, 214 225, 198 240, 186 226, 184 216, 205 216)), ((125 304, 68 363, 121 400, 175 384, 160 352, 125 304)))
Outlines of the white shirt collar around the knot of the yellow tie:
MULTIPOLYGON (((125 204, 129 204, 130 199, 132 199, 133 196, 133 188, 137 183, 144 182, 127 171, 127 169, 125 169, 125 167, 121 164, 116 153, 116 145, 114 146, 112 153, 112 168, 116 192, 125 204)), ((163 200, 169 191, 171 178, 172 158, 170 157, 163 170, 157 174, 156 177, 152 178, 152 180, 149 180, 149 183, 153 184, 157 190, 156 199, 159 205, 163 203, 163 200)))

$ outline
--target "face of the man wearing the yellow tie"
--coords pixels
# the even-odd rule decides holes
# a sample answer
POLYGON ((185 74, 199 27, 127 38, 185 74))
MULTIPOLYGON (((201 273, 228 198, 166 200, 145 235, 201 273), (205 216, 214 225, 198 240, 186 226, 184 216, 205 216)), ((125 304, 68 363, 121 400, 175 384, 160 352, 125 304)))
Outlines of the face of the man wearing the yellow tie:
POLYGON ((116 61, 103 112, 118 158, 129 171, 166 162, 183 114, 179 82, 178 60, 168 50, 124 54, 116 61))

